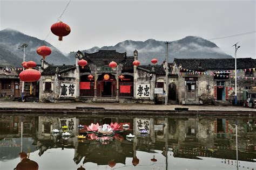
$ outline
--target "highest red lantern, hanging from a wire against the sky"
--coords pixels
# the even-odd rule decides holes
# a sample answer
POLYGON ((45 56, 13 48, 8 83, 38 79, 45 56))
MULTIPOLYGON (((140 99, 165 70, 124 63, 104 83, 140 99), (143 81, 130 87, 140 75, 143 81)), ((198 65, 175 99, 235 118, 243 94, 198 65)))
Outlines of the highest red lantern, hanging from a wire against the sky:
POLYGON ((62 41, 62 37, 68 36, 70 31, 69 25, 63 22, 58 22, 51 26, 51 32, 56 36, 59 36, 59 41, 62 41))

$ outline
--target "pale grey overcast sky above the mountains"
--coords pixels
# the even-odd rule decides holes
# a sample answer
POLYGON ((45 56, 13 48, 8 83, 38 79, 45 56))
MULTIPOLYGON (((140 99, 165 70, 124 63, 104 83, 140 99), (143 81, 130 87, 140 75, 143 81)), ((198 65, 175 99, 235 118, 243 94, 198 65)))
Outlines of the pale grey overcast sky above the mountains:
MULTIPOLYGON (((45 39, 65 9, 65 1, 0 0, 0 30, 11 28, 45 39)), ((71 33, 63 41, 50 33, 46 41, 64 53, 124 40, 173 41, 186 36, 213 39, 255 31, 255 1, 71 1, 62 20, 71 33)), ((256 34, 211 40, 234 56, 256 56, 256 34)))

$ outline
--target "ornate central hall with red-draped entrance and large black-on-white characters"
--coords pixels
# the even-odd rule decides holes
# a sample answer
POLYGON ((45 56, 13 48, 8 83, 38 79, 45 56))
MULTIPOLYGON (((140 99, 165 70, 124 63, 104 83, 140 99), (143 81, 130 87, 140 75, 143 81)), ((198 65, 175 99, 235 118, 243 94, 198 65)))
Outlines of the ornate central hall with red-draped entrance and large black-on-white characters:
POLYGON ((133 66, 132 62, 138 60, 137 51, 133 56, 115 50, 78 51, 75 57, 75 66, 53 66, 42 60, 40 101, 154 103, 158 97, 155 87, 161 88, 163 95, 163 65, 133 66), (82 59, 87 61, 84 68, 78 65, 82 59), (110 68, 111 61, 117 67, 110 68))

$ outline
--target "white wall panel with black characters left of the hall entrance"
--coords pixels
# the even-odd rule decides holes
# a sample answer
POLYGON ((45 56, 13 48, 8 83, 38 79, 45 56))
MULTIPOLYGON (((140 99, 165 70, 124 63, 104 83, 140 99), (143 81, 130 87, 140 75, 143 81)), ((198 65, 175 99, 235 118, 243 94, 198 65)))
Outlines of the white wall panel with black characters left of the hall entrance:
POLYGON ((60 83, 60 97, 76 97, 77 84, 60 83))

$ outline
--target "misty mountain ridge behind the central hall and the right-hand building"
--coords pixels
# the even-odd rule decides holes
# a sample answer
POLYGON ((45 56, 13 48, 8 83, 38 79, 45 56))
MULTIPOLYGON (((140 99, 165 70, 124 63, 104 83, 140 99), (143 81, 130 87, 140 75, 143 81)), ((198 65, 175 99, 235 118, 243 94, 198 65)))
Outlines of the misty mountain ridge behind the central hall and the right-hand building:
MULTIPOLYGON (((151 59, 157 58, 158 63, 162 63, 166 58, 165 41, 148 39, 146 41, 126 40, 114 46, 104 46, 102 48, 93 47, 86 49, 87 53, 97 52, 99 49, 116 49, 117 52, 127 52, 127 56, 133 56, 133 51, 137 49, 138 60, 143 64, 150 63, 151 59)), ((83 50, 82 52, 84 52, 83 50)), ((70 53, 70 55, 75 55, 70 53)), ((169 62, 174 58, 232 58, 225 54, 211 41, 200 37, 188 36, 177 41, 171 41, 169 45, 169 62)))

